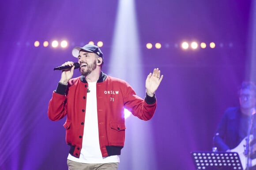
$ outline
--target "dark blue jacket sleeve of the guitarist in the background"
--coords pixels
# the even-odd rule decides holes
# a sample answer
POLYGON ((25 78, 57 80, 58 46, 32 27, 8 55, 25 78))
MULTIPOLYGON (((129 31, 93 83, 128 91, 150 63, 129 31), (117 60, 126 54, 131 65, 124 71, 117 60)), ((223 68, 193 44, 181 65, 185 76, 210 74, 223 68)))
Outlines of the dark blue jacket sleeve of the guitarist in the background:
POLYGON ((225 143, 225 136, 227 135, 226 126, 228 124, 227 116, 228 115, 225 112, 213 137, 214 146, 217 147, 218 151, 226 151, 230 149, 230 147, 225 143))

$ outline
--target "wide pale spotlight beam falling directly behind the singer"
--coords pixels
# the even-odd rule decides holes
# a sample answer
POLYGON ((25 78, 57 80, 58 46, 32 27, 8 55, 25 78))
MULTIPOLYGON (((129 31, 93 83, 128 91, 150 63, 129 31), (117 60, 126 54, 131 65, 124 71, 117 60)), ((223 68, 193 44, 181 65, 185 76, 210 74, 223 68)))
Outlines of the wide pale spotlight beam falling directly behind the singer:
MULTIPOLYGON (((119 0, 109 75, 126 80, 136 93, 144 98, 146 77, 142 76, 138 37, 134 0, 119 0)), ((127 119, 126 127, 129 130, 126 131, 125 146, 120 156, 120 169, 157 169, 154 161, 151 161, 154 160, 155 154, 154 147, 151 146, 153 139, 149 123, 134 116, 127 119), (151 148, 151 151, 148 148, 151 148)))

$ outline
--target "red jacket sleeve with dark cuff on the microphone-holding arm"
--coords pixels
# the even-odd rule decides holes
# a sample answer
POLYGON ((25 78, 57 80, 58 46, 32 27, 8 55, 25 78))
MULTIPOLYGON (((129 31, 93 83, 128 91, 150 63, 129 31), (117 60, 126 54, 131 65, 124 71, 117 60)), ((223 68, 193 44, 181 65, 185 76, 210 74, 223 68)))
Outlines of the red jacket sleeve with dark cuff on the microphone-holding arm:
POLYGON ((56 121, 62 119, 67 114, 66 95, 67 85, 58 83, 57 89, 53 91, 53 96, 49 101, 48 117, 50 120, 56 121))

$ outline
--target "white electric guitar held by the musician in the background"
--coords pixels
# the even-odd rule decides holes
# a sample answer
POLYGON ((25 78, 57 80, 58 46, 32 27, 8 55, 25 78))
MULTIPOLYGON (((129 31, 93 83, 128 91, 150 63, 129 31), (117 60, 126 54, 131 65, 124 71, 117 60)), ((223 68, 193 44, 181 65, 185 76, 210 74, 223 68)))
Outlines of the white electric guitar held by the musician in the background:
MULTIPOLYGON (((249 143, 253 140, 253 135, 251 134, 249 136, 249 143)), ((239 154, 241 164, 243 166, 243 169, 246 168, 247 163, 247 156, 245 155, 245 146, 246 146, 247 137, 245 137, 239 145, 237 145, 236 148, 231 149, 231 152, 237 152, 239 154)), ((256 145, 253 145, 249 148, 249 152, 255 152, 256 151, 256 145)), ((248 165, 249 166, 255 166, 256 165, 256 158, 255 159, 248 159, 248 165)))

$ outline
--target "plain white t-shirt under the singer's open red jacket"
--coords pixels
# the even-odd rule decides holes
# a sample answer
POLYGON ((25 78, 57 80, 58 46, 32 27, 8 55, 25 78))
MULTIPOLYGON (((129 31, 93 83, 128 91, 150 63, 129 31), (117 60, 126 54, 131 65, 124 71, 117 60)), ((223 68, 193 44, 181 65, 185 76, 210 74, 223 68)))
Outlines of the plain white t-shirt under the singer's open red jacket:
POLYGON ((68 154, 68 159, 79 163, 117 163, 119 156, 102 158, 98 133, 98 113, 96 82, 88 83, 90 92, 87 93, 86 114, 84 120, 83 143, 80 157, 68 154))

